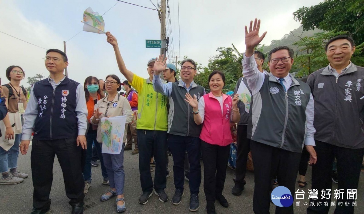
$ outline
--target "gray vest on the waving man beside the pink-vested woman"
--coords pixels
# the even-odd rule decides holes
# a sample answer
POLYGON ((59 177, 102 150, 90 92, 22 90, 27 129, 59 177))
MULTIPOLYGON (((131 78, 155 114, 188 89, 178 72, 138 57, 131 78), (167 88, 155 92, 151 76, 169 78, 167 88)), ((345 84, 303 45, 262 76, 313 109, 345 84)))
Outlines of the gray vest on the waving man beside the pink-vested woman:
MULTIPOLYGON (((189 94, 197 96, 199 101, 203 96, 203 87, 196 83, 191 83, 192 88, 189 94)), ((199 137, 201 125, 196 125, 193 120, 193 108, 185 101, 187 89, 183 87, 183 82, 177 81, 172 83, 172 93, 169 97, 169 114, 168 114, 168 133, 179 136, 199 137)))

